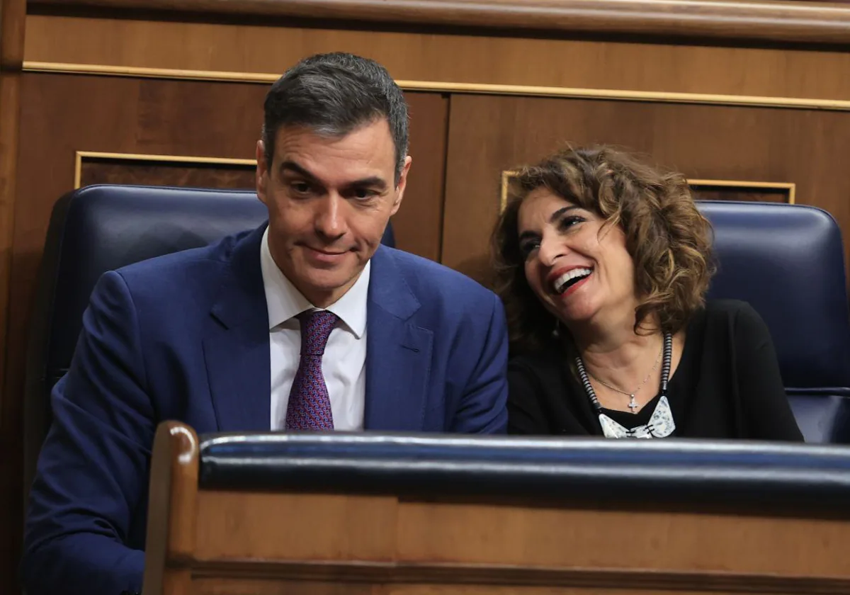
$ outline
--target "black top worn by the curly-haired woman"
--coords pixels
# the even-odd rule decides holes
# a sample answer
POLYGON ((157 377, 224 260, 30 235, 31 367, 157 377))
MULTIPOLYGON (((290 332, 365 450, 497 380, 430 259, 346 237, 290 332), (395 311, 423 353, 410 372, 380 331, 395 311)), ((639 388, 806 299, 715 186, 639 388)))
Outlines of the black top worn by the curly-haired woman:
MULTIPOLYGON (((507 377, 509 433, 603 435, 563 353, 515 358, 507 377)), ((658 398, 637 415, 604 413, 633 428, 649 422, 658 398)), ((802 441, 768 327, 745 302, 717 300, 694 314, 667 399, 679 438, 802 441)))

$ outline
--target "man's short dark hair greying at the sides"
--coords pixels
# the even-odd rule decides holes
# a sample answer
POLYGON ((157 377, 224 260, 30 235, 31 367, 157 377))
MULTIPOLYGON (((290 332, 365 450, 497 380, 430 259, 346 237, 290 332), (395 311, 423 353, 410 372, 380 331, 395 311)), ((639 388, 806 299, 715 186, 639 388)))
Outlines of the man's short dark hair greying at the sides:
POLYGON ((389 72, 376 61, 337 52, 316 54, 292 66, 265 99, 263 144, 269 167, 280 127, 305 126, 323 136, 344 136, 386 118, 395 145, 395 184, 405 167, 407 103, 389 72))

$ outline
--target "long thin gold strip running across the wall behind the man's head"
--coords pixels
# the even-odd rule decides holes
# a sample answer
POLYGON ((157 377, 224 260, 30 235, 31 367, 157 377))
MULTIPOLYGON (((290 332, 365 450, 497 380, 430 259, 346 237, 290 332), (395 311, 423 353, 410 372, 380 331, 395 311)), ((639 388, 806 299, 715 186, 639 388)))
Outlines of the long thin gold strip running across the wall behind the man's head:
MULTIPOLYGON (((139 66, 61 64, 56 62, 24 62, 27 72, 101 75, 109 77, 165 78, 190 81, 275 82, 280 75, 252 72, 184 71, 139 66)), ((844 99, 805 99, 796 97, 761 97, 755 95, 723 95, 672 93, 667 91, 630 91, 627 89, 592 89, 569 87, 534 87, 527 85, 495 85, 478 82, 396 81, 405 91, 478 95, 521 95, 525 97, 566 97, 572 99, 611 99, 618 101, 650 101, 655 103, 740 105, 777 107, 798 110, 850 111, 844 99)))

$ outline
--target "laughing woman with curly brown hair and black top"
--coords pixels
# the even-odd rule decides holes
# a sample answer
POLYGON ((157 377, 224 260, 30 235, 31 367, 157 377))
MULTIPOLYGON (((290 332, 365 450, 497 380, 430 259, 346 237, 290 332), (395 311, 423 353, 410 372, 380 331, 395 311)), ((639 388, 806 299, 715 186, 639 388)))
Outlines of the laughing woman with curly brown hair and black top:
POLYGON ((493 255, 510 432, 802 440, 767 326, 706 303, 711 228, 682 175, 558 152, 513 178, 493 255))

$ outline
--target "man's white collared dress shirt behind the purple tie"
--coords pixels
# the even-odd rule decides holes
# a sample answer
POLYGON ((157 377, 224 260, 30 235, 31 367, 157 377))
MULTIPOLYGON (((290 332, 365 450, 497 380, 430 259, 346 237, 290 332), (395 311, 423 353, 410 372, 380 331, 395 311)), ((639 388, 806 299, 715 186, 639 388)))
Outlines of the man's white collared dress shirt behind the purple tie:
MULTIPOLYGON (((336 303, 326 309, 339 317, 328 337, 321 369, 331 397, 333 427, 363 429, 366 388, 366 298, 369 269, 336 303)), ((260 267, 269 308, 269 355, 271 356, 271 429, 286 429, 286 405, 301 359, 301 324, 296 318, 316 309, 277 268, 269 251, 269 229, 263 234, 260 267)))

